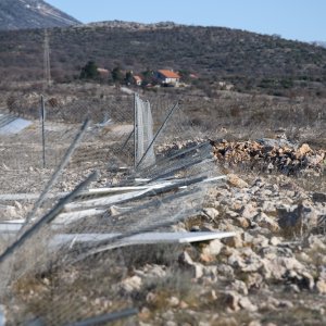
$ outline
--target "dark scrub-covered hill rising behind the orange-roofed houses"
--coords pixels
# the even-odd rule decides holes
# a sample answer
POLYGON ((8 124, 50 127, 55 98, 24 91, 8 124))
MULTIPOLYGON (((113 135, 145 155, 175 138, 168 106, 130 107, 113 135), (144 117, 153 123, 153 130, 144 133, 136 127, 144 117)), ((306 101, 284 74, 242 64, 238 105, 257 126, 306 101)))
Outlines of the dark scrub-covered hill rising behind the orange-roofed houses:
MULTIPOLYGON (((0 33, 0 73, 9 80, 42 77, 43 32, 0 33)), ((100 23, 50 32, 54 80, 72 80, 88 60, 112 70, 167 67, 196 73, 201 88, 220 80, 239 91, 325 96, 326 49, 221 27, 170 23, 100 23)))

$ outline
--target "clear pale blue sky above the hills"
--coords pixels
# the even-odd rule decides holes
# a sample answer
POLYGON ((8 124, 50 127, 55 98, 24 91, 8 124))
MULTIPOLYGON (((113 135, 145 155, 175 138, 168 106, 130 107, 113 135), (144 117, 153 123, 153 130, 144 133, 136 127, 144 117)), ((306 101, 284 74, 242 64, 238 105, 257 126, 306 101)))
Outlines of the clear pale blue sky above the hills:
POLYGON ((83 23, 175 22, 326 41, 326 0, 46 0, 83 23))

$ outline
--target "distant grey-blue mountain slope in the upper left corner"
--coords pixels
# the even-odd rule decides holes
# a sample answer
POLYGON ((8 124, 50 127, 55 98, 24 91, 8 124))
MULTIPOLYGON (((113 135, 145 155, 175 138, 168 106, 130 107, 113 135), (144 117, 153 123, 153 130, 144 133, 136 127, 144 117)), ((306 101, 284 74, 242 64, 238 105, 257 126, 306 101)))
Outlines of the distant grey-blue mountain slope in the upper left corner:
POLYGON ((0 29, 64 27, 79 22, 41 0, 0 0, 0 29))

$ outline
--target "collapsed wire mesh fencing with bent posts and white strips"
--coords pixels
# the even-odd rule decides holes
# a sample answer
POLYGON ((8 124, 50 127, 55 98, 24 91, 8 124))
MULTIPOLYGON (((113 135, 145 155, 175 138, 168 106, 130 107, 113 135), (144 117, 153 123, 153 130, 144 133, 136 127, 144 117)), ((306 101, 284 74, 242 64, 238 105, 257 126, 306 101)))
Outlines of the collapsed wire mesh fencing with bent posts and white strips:
POLYGON ((135 313, 123 278, 135 261, 158 254, 158 246, 183 241, 172 231, 198 216, 210 184, 220 180, 210 143, 181 105, 125 100, 123 110, 52 103, 45 168, 41 126, 8 137, 12 152, 1 164, 15 166, 17 184, 26 178, 1 189, 8 205, 25 206, 1 236, 1 302, 11 308, 12 324, 87 325, 135 313), (86 116, 91 122, 83 124, 86 116))

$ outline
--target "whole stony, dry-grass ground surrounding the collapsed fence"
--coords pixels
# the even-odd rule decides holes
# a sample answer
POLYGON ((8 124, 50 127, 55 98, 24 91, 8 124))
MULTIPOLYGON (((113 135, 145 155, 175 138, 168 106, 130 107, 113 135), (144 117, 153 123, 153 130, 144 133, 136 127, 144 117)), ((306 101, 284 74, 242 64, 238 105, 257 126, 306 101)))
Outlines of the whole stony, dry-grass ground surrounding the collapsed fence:
MULTIPOLYGON (((8 90, 0 98, 1 106, 37 120, 39 95, 30 93, 30 88, 26 85, 16 92, 8 90)), ((170 108, 181 97, 186 114, 205 135, 196 143, 206 140, 208 135, 227 139, 211 140, 216 164, 227 181, 212 186, 200 215, 173 229, 234 230, 238 236, 193 246, 125 248, 86 263, 27 275, 14 283, 10 298, 0 302, 9 319, 21 318, 22 323, 13 325, 25 323, 29 316, 48 317, 46 325, 66 325, 129 306, 139 313, 124 319, 123 325, 326 324, 324 101, 225 91, 208 98, 202 92, 189 96, 177 91, 168 99, 162 95, 153 101, 159 109, 170 108), (284 131, 300 143, 275 137, 284 131), (274 139, 235 140, 259 137, 274 139), (24 308, 27 312, 22 311, 24 308)), ((122 142, 129 134, 130 103, 130 97, 116 96, 114 87, 58 86, 46 103, 51 121, 47 124, 47 158, 51 164, 41 167, 38 124, 2 140, 1 192, 40 192, 89 108, 95 127, 54 192, 71 191, 93 168, 104 173, 92 187, 117 184, 120 177, 112 177, 108 166, 122 165, 122 160, 109 162, 110 155, 120 158, 120 148, 108 145, 122 142), (113 120, 117 125, 123 123, 123 130, 120 126, 98 133, 96 124, 108 112, 115 113, 113 120)), ((177 128, 170 134, 188 139, 188 125, 180 131, 183 124, 175 124, 177 128)), ((199 135, 192 128, 190 131, 199 135)), ((190 145, 193 139, 181 145, 164 142, 159 150, 171 149, 173 153, 190 145)), ((32 206, 33 201, 0 202, 0 220, 22 218, 32 206)), ((32 260, 27 252, 26 261, 32 260)))

